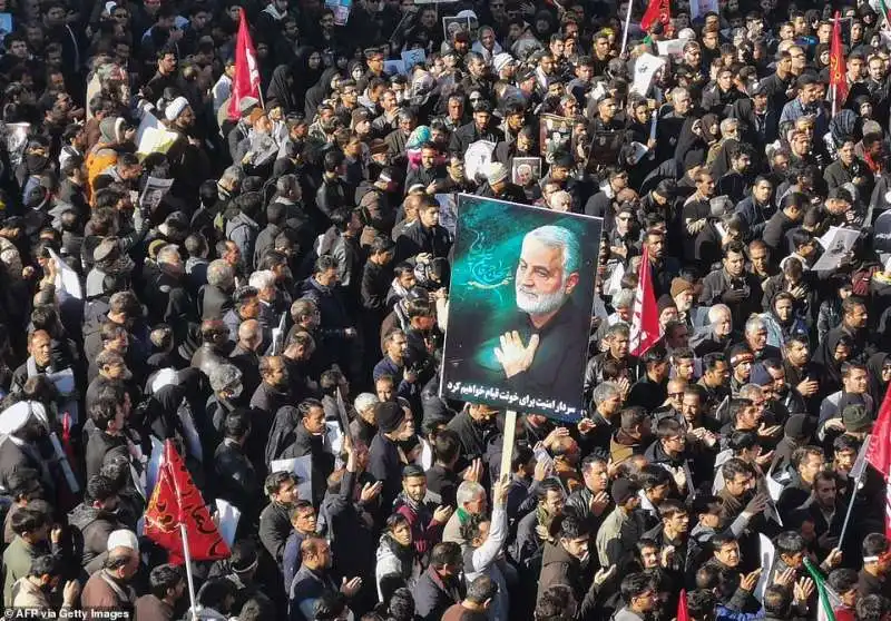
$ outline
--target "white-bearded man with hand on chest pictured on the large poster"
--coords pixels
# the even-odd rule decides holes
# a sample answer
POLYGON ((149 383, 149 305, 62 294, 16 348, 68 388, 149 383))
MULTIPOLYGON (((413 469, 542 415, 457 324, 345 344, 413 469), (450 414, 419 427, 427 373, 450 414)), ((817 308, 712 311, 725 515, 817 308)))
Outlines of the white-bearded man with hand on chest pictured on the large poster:
POLYGON ((500 335, 493 353, 501 377, 526 394, 571 402, 578 396, 572 394, 578 377, 561 368, 577 368, 587 352, 590 313, 572 302, 580 262, 579 239, 568 228, 541 226, 523 237, 515 277, 516 327, 500 335))

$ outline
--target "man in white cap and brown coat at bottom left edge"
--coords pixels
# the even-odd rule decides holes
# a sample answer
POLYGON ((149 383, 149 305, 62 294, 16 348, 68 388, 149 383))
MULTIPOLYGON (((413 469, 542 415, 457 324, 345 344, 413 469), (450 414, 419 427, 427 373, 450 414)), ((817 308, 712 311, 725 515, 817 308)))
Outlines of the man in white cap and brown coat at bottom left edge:
POLYGON ((133 611, 136 592, 129 582, 139 570, 136 533, 121 529, 108 536, 108 556, 101 570, 87 581, 80 605, 91 619, 94 610, 133 611))

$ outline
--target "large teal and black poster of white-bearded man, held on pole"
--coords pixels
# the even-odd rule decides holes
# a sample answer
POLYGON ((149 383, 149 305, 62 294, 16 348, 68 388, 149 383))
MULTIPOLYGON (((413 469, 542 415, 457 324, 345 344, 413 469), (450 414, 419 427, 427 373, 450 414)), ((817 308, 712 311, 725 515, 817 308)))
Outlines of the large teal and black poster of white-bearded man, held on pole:
POLYGON ((600 218, 459 195, 441 394, 578 421, 600 218))

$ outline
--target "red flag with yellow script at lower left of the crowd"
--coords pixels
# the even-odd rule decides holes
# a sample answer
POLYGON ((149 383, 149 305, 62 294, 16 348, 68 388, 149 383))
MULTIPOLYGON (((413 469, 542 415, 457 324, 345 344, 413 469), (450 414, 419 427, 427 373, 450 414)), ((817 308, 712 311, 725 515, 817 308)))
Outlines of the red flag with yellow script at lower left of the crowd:
POLYGON ((186 525, 193 561, 215 561, 232 554, 186 464, 168 440, 164 443, 158 481, 146 510, 145 534, 169 552, 174 564, 185 562, 180 523, 186 525))

